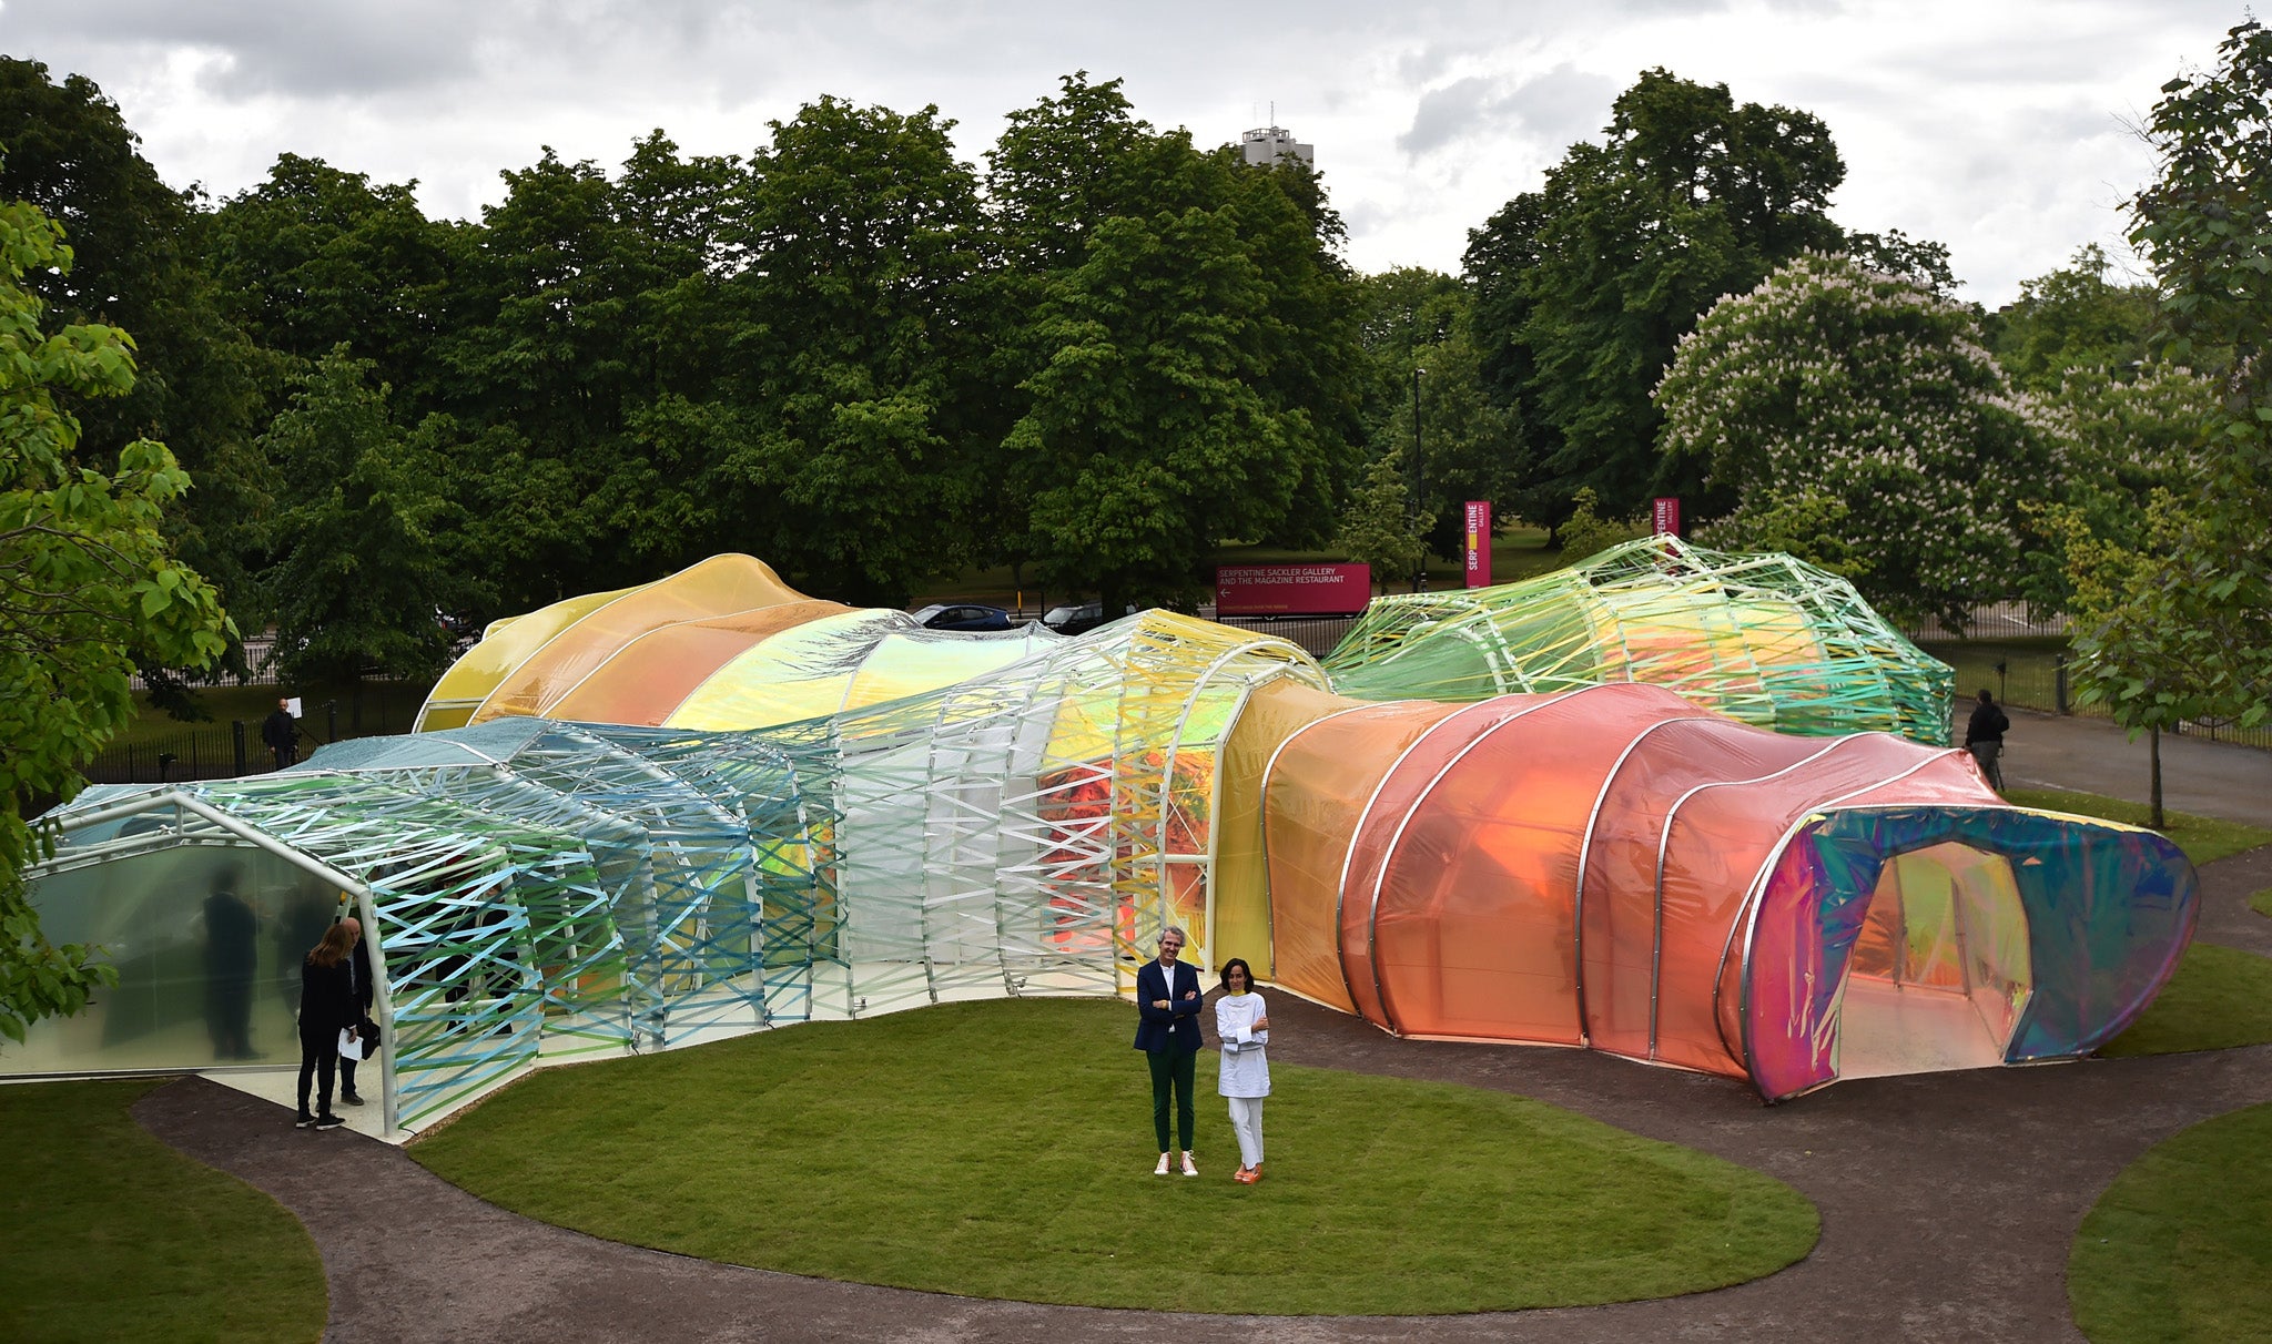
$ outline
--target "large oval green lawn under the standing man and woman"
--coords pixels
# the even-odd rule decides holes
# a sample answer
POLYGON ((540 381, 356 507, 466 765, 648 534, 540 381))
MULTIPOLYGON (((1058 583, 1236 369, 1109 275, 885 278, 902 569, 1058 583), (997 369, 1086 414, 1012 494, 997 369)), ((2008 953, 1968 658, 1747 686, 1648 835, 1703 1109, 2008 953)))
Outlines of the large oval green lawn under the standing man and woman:
POLYGON ((968 1296, 1266 1314, 1577 1305, 1813 1246, 1770 1176, 1520 1097, 1272 1069, 1268 1178, 1200 1060, 1202 1178, 1152 1176, 1134 1015, 922 1008, 548 1069, 411 1153, 600 1237, 968 1296))

